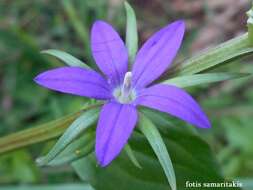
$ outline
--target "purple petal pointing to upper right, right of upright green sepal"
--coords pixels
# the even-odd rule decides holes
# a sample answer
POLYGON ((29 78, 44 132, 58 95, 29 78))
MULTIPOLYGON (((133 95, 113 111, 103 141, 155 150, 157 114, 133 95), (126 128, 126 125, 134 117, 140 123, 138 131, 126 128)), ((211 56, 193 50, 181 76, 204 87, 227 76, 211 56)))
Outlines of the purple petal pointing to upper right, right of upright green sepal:
POLYGON ((141 88, 157 79, 172 63, 183 40, 183 21, 155 33, 140 49, 133 66, 133 84, 141 88))

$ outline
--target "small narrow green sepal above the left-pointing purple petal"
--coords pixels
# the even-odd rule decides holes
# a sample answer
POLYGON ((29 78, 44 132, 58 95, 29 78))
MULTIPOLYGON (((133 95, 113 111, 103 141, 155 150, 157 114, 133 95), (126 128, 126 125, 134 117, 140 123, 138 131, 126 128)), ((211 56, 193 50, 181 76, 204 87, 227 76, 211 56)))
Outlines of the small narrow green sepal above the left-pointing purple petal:
POLYGON ((48 50, 41 51, 41 53, 55 56, 58 59, 65 62, 67 65, 72 66, 72 67, 84 67, 84 68, 90 69, 90 67, 86 65, 84 62, 80 61, 79 59, 75 58, 74 56, 64 51, 60 51, 56 49, 48 49, 48 50))

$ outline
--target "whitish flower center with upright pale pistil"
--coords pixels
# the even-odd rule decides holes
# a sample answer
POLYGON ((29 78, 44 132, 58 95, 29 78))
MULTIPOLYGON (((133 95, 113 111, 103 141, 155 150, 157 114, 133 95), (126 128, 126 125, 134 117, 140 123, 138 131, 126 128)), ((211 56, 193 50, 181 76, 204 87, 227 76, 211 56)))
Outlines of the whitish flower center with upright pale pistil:
POLYGON ((136 98, 136 93, 132 89, 132 73, 127 72, 123 84, 113 91, 113 96, 122 104, 131 103, 136 98))

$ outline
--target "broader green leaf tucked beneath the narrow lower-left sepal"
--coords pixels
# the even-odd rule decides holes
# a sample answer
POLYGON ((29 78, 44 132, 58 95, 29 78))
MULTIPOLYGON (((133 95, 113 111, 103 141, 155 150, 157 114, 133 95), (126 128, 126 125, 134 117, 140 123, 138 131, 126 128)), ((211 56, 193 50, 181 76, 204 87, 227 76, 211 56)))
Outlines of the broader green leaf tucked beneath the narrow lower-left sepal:
POLYGON ((95 144, 94 130, 85 131, 81 137, 69 144, 59 155, 52 159, 47 165, 58 166, 73 162, 91 153, 95 144))

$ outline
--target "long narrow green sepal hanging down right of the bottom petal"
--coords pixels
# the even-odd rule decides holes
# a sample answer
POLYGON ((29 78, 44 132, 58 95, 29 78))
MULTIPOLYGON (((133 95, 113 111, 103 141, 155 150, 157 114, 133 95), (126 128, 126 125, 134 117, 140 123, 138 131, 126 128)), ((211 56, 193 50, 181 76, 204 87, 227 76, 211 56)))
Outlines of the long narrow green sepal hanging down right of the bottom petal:
POLYGON ((157 155, 165 175, 168 179, 168 182, 171 186, 172 190, 177 189, 176 184, 176 177, 174 168, 169 156, 169 153, 166 149, 166 146, 163 142, 163 139, 156 129, 154 124, 144 115, 139 114, 139 123, 138 126, 140 127, 142 133, 146 136, 147 140, 149 141, 152 149, 154 150, 155 154, 157 155))

